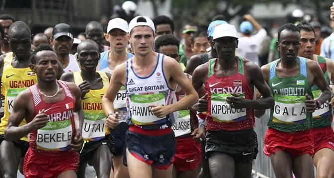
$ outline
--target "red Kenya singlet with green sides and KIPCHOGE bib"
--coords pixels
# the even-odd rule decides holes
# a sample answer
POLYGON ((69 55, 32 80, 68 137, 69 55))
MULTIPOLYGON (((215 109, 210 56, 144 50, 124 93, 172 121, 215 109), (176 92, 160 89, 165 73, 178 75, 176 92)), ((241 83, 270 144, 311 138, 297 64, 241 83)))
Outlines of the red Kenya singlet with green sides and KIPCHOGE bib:
POLYGON ((246 99, 253 99, 254 89, 248 83, 245 60, 236 57, 237 71, 234 75, 218 77, 214 68, 217 59, 209 60, 205 92, 208 94, 207 131, 240 131, 253 129, 254 109, 234 109, 226 97, 239 94, 246 99))

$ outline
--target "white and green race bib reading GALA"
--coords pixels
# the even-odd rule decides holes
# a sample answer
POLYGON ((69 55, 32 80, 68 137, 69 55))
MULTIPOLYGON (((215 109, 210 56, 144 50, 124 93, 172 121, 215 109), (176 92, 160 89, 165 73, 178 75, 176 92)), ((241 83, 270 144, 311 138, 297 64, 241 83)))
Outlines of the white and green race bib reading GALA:
POLYGON ((274 98, 274 122, 296 122, 306 119, 305 96, 275 95, 274 98))

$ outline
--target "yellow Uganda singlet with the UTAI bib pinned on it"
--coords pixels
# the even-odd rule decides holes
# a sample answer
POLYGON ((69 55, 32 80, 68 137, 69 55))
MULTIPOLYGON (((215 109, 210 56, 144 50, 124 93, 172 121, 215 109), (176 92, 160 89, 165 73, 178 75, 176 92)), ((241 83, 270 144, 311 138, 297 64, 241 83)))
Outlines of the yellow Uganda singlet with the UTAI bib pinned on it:
MULTIPOLYGON (((82 126, 82 138, 87 141, 98 141, 110 134, 106 123, 106 115, 102 110, 102 97, 107 90, 109 78, 104 72, 98 72, 102 78, 101 89, 89 90, 81 99, 84 121, 82 126)), ((73 72, 74 82, 77 86, 83 82, 80 71, 73 72)))

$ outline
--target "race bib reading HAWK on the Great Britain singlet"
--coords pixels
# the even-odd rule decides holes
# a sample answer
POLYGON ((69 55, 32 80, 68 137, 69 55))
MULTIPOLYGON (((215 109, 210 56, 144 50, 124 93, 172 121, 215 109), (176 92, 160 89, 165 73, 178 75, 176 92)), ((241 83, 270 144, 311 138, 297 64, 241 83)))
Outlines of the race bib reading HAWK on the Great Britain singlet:
POLYGON ((163 93, 130 96, 131 121, 137 125, 153 125, 154 122, 164 118, 158 118, 151 112, 151 105, 165 105, 163 93))

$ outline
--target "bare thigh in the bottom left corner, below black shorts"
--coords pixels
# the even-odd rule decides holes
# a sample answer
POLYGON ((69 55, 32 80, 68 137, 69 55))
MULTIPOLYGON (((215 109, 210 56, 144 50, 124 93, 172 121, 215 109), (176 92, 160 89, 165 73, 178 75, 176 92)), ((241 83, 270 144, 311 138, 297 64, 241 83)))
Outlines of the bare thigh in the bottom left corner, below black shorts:
POLYGON ((16 178, 21 150, 14 143, 2 141, 0 145, 0 162, 3 178, 16 178))

